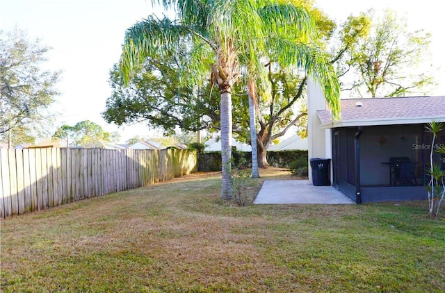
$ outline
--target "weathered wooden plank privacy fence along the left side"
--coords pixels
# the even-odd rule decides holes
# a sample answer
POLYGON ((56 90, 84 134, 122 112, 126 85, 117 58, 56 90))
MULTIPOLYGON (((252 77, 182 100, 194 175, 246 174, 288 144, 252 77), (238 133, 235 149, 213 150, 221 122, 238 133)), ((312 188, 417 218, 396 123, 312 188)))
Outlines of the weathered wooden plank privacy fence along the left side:
POLYGON ((196 167, 196 152, 179 149, 0 149, 1 217, 167 181, 196 167))

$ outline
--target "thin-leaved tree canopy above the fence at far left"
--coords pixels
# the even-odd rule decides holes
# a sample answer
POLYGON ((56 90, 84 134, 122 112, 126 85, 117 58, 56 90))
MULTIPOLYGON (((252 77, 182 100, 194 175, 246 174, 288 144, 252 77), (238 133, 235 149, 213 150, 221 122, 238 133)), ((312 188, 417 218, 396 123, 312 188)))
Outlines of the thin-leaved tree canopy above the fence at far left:
POLYGON ((58 94, 59 72, 42 69, 49 47, 28 40, 24 31, 0 31, 0 135, 26 133, 49 119, 47 108, 58 94))

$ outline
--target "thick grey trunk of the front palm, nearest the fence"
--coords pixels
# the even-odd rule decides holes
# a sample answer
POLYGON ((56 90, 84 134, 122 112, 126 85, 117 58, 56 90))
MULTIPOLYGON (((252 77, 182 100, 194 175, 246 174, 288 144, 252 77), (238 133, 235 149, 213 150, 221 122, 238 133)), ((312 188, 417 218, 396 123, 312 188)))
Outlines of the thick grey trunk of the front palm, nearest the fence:
POLYGON ((221 92, 221 160, 223 180, 221 199, 232 199, 232 94, 221 92))

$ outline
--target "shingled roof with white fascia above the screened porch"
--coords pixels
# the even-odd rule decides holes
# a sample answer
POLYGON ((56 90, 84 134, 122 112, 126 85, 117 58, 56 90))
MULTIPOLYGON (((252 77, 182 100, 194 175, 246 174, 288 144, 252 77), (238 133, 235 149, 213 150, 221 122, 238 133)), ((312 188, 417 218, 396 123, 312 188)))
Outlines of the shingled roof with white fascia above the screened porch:
POLYGON ((317 111, 321 128, 445 122, 445 96, 342 99, 340 106, 339 121, 329 110, 317 111))

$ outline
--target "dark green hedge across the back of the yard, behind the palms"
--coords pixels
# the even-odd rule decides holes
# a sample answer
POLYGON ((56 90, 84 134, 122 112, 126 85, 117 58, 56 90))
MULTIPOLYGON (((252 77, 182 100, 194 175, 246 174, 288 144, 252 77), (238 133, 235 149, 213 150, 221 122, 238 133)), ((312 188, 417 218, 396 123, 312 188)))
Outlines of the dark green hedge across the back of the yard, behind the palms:
MULTIPOLYGON (((245 167, 252 166, 252 153, 250 151, 232 152, 234 161, 245 158, 245 167)), ((270 166, 289 168, 289 164, 298 158, 307 158, 307 151, 268 151, 267 161, 270 166)), ((198 153, 198 171, 221 171, 221 152, 209 151, 198 153)))

